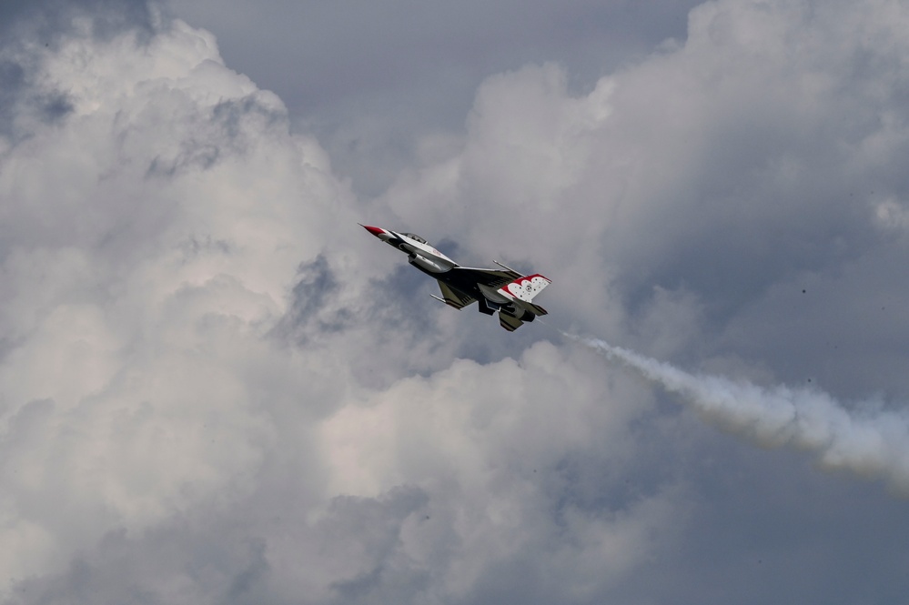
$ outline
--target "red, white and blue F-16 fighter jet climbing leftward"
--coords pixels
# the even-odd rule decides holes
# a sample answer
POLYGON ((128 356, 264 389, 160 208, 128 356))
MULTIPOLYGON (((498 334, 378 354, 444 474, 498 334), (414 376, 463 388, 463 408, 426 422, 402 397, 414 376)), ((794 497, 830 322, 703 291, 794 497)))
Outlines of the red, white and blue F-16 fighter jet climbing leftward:
POLYGON ((411 265, 435 277, 442 296, 430 296, 450 307, 461 309, 476 302, 480 313, 493 315, 499 311, 499 323, 509 332, 520 328, 525 321, 533 321, 538 315, 546 315, 546 309, 532 302, 533 297, 551 283, 539 273, 521 275, 498 260, 493 262, 501 269, 460 267, 418 235, 366 225, 361 227, 403 251, 411 265))

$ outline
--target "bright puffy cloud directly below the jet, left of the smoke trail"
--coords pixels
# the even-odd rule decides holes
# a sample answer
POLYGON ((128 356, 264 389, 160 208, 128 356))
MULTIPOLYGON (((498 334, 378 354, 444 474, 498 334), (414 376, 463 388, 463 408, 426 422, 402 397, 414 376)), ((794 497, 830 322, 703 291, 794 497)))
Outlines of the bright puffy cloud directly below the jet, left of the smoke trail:
POLYGON ((633 450, 627 423, 643 409, 628 394, 604 383, 590 358, 550 344, 485 366, 459 360, 328 418, 321 439, 330 490, 422 489, 432 523, 448 530, 411 528, 402 548, 440 574, 442 601, 463 598, 497 566, 527 560, 550 568, 538 580, 546 590, 561 582, 569 600, 583 602, 665 548, 658 536, 679 521, 675 490, 627 509, 565 492, 609 489, 607 478, 618 478, 633 450), (599 477, 560 484, 558 467, 576 456, 594 456, 599 477))

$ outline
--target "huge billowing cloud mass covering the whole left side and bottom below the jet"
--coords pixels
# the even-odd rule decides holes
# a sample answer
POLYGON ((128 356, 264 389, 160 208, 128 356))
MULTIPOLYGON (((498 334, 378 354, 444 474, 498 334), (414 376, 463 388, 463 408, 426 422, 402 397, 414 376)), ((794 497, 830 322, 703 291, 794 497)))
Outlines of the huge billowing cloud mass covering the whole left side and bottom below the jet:
POLYGON ((550 563, 582 601, 662 548, 680 491, 603 509, 562 477, 627 455, 598 372, 452 364, 439 311, 389 330, 394 266, 278 97, 203 30, 96 25, 4 48, 31 70, 0 166, 9 602, 471 600, 550 563))

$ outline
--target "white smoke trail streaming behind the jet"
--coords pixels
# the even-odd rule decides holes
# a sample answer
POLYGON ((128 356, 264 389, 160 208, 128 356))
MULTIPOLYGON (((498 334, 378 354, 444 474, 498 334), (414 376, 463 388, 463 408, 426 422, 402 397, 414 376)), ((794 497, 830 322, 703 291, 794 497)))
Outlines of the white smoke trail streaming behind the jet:
POLYGON ((874 409, 850 411, 812 388, 762 388, 744 381, 689 374, 598 338, 562 332, 606 358, 682 397, 706 421, 770 448, 810 451, 822 469, 884 479, 909 497, 909 418, 874 409))

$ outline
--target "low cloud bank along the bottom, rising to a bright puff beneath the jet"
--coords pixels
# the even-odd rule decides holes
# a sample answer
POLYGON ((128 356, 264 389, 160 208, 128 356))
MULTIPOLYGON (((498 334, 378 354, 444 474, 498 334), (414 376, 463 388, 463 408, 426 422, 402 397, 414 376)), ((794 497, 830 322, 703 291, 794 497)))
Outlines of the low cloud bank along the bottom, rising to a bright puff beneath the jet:
POLYGON ((589 602, 667 548, 687 499, 679 486, 614 499, 640 412, 599 400, 595 363, 540 344, 365 393, 314 425, 318 472, 301 466, 299 429, 276 427, 284 445, 255 489, 110 529, 12 602, 589 602))

